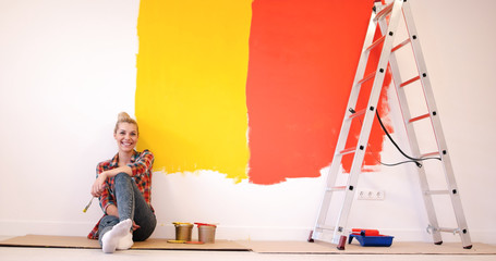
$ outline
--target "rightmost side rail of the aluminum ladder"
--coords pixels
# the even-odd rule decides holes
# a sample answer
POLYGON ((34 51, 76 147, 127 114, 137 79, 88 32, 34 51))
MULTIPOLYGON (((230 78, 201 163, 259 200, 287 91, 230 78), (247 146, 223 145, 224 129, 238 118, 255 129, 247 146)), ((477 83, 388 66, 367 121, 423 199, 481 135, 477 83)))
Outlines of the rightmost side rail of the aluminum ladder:
POLYGON ((462 240, 462 245, 464 248, 471 248, 472 243, 470 239, 470 233, 468 229, 467 220, 464 217, 461 199, 459 196, 459 189, 457 187, 457 183, 455 179, 455 174, 453 174, 453 170, 451 166, 449 152, 447 149, 446 140, 445 140, 444 133, 443 133, 443 127, 441 127, 440 120, 439 120, 439 113, 437 111, 437 107, 436 107, 436 103, 434 100, 434 92, 432 90, 430 75, 427 74, 426 65, 423 60, 422 48, 419 42, 419 36, 416 34, 416 28, 413 23, 413 16, 411 14, 411 9, 410 9, 409 2, 406 2, 406 4, 404 4, 403 15, 404 15, 404 21, 407 23, 407 28, 409 30, 409 34, 412 37, 415 36, 414 39, 412 38, 413 39, 413 41, 412 41, 413 53, 415 55, 418 70, 421 75, 421 82, 422 82, 422 87, 424 89, 424 95, 426 96, 427 108, 430 110, 431 121, 433 124, 436 140, 438 144, 439 156, 441 157, 446 181, 448 183, 448 188, 450 189, 450 191, 452 191, 450 194, 450 198, 451 198, 451 203, 452 203, 452 207, 455 210, 456 220, 458 222, 459 229, 461 231, 460 237, 462 240))

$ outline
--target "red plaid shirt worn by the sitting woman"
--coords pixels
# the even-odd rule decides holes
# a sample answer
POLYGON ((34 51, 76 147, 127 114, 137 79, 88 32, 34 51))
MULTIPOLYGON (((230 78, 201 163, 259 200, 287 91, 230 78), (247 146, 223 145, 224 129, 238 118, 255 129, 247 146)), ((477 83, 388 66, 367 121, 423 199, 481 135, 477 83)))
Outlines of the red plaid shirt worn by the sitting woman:
MULTIPOLYGON (((136 183, 137 188, 143 194, 145 201, 150 206, 152 200, 152 166, 154 164, 154 154, 149 150, 144 150, 143 152, 137 152, 134 150, 133 156, 131 157, 131 163, 128 166, 133 171, 133 181, 136 183)), ((117 153, 111 160, 107 160, 98 163, 96 167, 96 176, 104 171, 112 170, 119 166, 119 153, 117 153)), ((114 177, 107 178, 105 182, 106 188, 99 197, 100 207, 104 210, 105 215, 107 214, 107 207, 110 204, 117 206, 116 191, 113 185, 114 177)), ((152 208, 153 210, 153 208, 152 208)), ((104 216, 105 216, 104 215, 104 216)), ((100 219, 101 221, 101 219, 100 219)), ((98 226, 100 221, 95 225, 93 231, 88 234, 89 239, 98 238, 98 226)))

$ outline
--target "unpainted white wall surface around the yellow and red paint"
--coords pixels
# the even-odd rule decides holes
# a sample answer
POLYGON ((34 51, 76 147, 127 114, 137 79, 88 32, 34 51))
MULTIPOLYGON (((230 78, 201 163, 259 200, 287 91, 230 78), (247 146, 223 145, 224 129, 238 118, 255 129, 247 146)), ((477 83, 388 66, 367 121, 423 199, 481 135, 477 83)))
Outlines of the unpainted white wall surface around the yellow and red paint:
MULTIPOLYGON (((491 244, 495 8, 412 0, 472 239, 491 244)), ((96 201, 82 209, 96 163, 116 151, 117 113, 134 112, 137 11, 138 0, 0 0, 0 235, 85 236, 100 217, 96 201)), ((395 108, 394 137, 404 140, 395 108)), ((398 159, 386 142, 383 160, 398 159)), ((171 222, 181 221, 219 223, 218 238, 305 240, 324 179, 259 186, 213 172, 155 173, 154 236, 173 237, 171 222)), ((386 199, 355 201, 350 226, 428 240, 416 182, 411 165, 363 174, 360 187, 385 190, 386 199)), ((441 206, 439 219, 449 211, 441 206)))

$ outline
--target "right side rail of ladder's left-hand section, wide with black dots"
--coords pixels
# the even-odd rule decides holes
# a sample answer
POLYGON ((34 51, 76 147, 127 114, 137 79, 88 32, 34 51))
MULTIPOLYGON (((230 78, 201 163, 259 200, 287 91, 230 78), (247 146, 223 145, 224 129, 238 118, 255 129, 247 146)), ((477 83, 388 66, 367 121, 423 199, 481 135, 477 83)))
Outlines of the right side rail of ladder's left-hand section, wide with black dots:
POLYGON ((339 212, 338 220, 336 222, 336 229, 332 237, 334 244, 339 244, 340 239, 346 237, 346 226, 348 223, 348 215, 351 210, 351 204, 353 202, 354 191, 356 188, 359 175, 362 169, 363 159, 366 151, 366 145, 368 142, 368 137, 372 129, 372 123, 375 116, 375 110, 377 110, 378 100, 380 97, 380 90, 383 89, 384 78, 386 75, 389 55, 392 49, 392 42, 395 39, 395 34, 398 22, 401 16, 402 0, 397 0, 392 7, 391 16, 389 21, 389 28, 386 34, 386 39, 383 44, 383 50, 380 52, 379 62, 377 65, 376 75, 371 90, 371 97, 368 99, 367 112, 365 113, 362 128, 360 130, 360 138, 356 146, 356 151, 353 157, 353 163, 350 170, 350 176, 348 178, 348 189, 344 194, 344 202, 342 209, 339 212), (391 34, 390 34, 391 33, 391 34))

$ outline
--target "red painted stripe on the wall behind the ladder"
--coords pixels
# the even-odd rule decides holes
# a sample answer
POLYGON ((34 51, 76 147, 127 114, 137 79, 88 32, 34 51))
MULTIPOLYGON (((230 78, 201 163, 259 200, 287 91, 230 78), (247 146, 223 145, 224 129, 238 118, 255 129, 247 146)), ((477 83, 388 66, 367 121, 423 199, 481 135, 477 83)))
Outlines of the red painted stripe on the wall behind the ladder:
POLYGON ((317 177, 330 163, 371 9, 372 1, 253 2, 250 182, 317 177))

